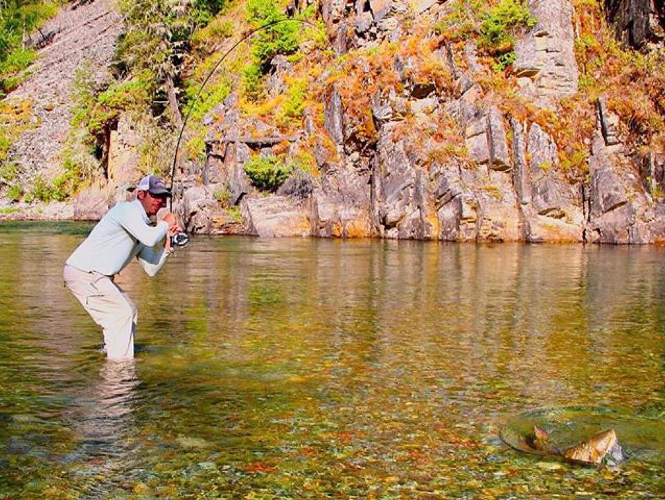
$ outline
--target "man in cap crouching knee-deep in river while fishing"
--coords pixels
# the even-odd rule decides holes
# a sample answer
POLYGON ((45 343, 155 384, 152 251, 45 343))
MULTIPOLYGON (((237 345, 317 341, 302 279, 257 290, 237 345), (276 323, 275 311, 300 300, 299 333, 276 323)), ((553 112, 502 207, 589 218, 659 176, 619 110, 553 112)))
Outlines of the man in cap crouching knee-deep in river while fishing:
POLYGON ((154 276, 171 253, 170 237, 182 231, 170 212, 155 225, 150 220, 171 196, 162 179, 147 175, 136 189, 136 199, 109 210, 63 270, 65 285, 102 327, 109 359, 134 357, 136 329, 136 306, 114 283, 114 276, 134 257, 148 276, 154 276))

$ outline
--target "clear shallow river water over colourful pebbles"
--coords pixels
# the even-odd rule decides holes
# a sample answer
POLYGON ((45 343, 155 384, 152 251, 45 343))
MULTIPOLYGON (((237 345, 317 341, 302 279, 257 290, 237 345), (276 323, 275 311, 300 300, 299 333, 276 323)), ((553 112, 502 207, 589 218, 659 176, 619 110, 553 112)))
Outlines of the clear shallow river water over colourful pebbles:
POLYGON ((62 286, 89 229, 0 226, 0 499, 665 497, 662 463, 498 438, 539 407, 664 418, 662 248, 197 238, 121 274, 114 364, 62 286))

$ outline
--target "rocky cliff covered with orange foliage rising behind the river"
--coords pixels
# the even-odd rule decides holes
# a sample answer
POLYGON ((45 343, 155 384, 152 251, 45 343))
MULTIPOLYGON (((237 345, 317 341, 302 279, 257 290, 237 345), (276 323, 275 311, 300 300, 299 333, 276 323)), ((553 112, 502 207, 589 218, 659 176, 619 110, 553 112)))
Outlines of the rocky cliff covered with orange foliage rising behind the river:
POLYGON ((330 49, 275 57, 265 83, 278 100, 305 79, 295 126, 247 112, 240 91, 205 116, 205 159, 175 179, 188 230, 665 242, 662 4, 530 0, 501 57, 464 28, 479 21, 463 5, 321 1, 330 49), (299 167, 267 190, 256 158, 299 167))

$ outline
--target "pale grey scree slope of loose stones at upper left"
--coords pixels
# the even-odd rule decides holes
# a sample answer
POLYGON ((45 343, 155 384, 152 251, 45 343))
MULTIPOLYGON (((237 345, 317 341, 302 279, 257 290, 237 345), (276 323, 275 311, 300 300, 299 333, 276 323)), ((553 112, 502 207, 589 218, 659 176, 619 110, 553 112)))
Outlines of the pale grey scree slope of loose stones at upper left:
MULTIPOLYGON (((113 60, 116 40, 122 33, 122 19, 112 0, 77 1, 65 6, 59 15, 30 35, 26 43, 39 47, 39 58, 28 69, 28 78, 12 91, 0 107, 0 126, 17 127, 16 120, 6 120, 12 110, 27 109, 26 123, 0 173, 0 186, 20 186, 24 194, 30 186, 53 179, 63 170, 62 153, 71 132, 73 82, 77 71, 97 82, 109 80, 109 62, 113 60), (11 168, 7 168, 11 167, 11 168), (10 170, 15 179, 4 179, 10 170), (18 182, 10 182, 10 181, 18 182)), ((98 184, 107 184, 100 179, 98 184)), ((3 193, 6 195, 5 193, 3 193)), ((85 195, 84 195, 85 196, 85 195)), ((11 200, 9 200, 11 201, 11 200)), ((17 201, 17 200, 14 200, 17 201)), ((5 217, 12 218, 95 218, 108 206, 87 207, 87 214, 75 213, 74 203, 5 203, 5 217)), ((98 204, 95 202, 94 204, 98 204)))

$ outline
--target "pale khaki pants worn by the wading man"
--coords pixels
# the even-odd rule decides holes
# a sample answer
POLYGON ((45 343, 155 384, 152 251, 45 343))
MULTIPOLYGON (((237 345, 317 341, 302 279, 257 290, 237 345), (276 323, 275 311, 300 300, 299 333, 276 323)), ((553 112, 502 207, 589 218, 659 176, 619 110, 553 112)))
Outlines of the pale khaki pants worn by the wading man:
POLYGON ((112 278, 96 271, 85 272, 65 265, 64 284, 100 325, 109 359, 134 357, 136 306, 112 278))

